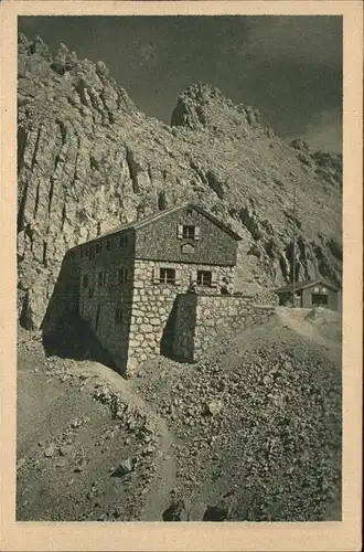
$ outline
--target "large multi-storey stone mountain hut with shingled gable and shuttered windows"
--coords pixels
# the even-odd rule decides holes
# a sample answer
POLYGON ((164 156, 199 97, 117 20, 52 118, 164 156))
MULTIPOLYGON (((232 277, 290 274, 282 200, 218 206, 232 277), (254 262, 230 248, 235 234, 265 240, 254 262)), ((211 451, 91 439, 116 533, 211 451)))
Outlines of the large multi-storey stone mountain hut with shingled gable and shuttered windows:
POLYGON ((238 240, 193 203, 124 224, 72 250, 78 312, 130 372, 163 347, 172 351, 175 299, 192 282, 221 300, 224 278, 234 282, 238 240))

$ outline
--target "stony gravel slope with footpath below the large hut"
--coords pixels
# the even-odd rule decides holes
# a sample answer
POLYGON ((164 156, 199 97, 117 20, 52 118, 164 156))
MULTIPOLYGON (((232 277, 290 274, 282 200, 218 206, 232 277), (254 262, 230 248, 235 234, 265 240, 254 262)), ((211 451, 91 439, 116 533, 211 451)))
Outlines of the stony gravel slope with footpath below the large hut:
POLYGON ((278 309, 125 381, 20 331, 17 519, 340 520, 339 335, 278 309))

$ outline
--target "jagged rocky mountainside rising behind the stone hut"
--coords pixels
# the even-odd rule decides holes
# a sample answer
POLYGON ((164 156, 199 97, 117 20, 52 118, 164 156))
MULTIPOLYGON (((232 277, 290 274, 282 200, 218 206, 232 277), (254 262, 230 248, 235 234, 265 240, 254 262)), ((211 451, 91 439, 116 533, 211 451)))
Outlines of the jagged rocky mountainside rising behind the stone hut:
MULTIPOLYGON (((341 280, 341 157, 290 147, 257 109, 202 84, 172 126, 140 113, 105 63, 21 35, 18 65, 18 309, 39 328, 65 252, 191 199, 243 240, 240 289, 289 280, 293 189, 299 277, 341 280)), ((299 144, 299 142, 298 142, 299 144)))

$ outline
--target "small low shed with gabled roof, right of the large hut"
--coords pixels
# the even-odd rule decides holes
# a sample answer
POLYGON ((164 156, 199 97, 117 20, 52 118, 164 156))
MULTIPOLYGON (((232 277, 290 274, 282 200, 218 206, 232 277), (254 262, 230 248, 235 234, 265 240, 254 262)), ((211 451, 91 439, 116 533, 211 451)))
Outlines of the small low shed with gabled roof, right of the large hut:
MULTIPOLYGON (((289 284, 274 290, 279 297, 279 305, 292 304, 292 288, 293 284, 289 284)), ((295 306, 302 308, 325 307, 340 310, 341 290, 324 279, 296 282, 295 306)))

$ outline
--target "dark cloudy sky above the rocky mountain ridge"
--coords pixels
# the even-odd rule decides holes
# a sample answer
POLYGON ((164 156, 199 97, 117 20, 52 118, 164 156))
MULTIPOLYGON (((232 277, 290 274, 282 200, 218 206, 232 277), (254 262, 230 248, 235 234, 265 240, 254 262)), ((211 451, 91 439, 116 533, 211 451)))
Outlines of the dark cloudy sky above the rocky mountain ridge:
POLYGON ((342 19, 260 17, 22 17, 19 31, 55 53, 103 60, 137 106, 170 123, 189 84, 257 107, 286 140, 341 151, 342 19))

